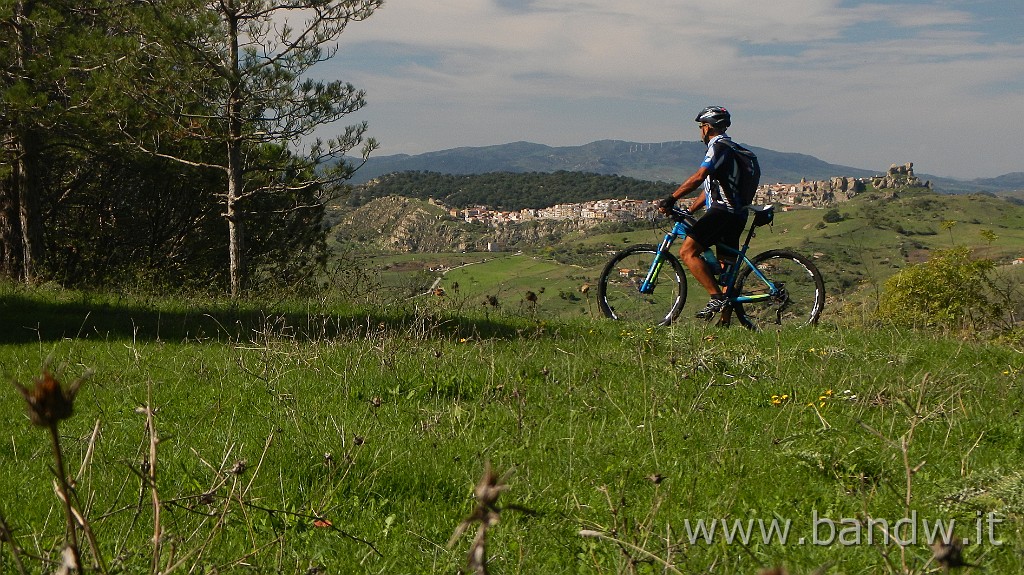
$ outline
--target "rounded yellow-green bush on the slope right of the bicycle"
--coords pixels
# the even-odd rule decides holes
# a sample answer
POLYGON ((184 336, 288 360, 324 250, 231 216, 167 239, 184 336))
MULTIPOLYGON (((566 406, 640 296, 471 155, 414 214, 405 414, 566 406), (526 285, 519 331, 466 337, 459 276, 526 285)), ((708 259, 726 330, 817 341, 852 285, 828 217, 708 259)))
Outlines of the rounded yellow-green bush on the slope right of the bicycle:
POLYGON ((988 328, 1001 307, 989 288, 991 260, 975 260, 967 248, 938 252, 886 280, 879 314, 912 327, 988 328))

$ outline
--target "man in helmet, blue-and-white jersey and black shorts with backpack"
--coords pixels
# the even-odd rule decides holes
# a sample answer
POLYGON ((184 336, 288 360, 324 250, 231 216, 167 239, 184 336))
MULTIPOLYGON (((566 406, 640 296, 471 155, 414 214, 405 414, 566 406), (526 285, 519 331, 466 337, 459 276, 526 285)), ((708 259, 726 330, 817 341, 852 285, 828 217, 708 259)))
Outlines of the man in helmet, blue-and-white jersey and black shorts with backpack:
MULTIPOLYGON (((708 305, 698 311, 696 316, 700 319, 711 319, 725 309, 726 300, 700 254, 716 244, 739 247, 739 236, 746 225, 744 208, 748 203, 744 203, 737 189, 740 167, 737 165, 736 152, 727 141, 731 141, 725 134, 732 124, 729 110, 722 106, 711 105, 701 109, 694 121, 700 129, 700 140, 708 145, 708 154, 692 176, 680 184, 672 195, 658 203, 658 209, 663 213, 668 213, 677 200, 700 188, 700 193, 693 200, 689 211, 695 212, 703 207, 705 214, 696 221, 683 241, 679 257, 711 296, 708 305)), ((731 256, 719 254, 719 258, 725 261, 723 257, 730 261, 733 259, 731 256)))

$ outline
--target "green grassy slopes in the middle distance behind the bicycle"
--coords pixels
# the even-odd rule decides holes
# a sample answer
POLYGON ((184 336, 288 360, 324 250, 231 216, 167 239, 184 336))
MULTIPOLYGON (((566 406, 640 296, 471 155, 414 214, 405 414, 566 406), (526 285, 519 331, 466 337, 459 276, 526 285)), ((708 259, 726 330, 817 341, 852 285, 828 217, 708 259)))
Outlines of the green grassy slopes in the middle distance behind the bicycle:
MULTIPOLYGON (((373 264, 384 284, 406 289, 410 296, 426 293, 440 278, 450 295, 458 284, 469 307, 486 305, 494 296, 503 306, 575 317, 596 310, 580 289, 596 283, 610 255, 633 244, 657 244, 670 223, 663 219, 627 232, 596 229, 516 254, 401 254, 375 257, 373 264), (441 262, 454 267, 482 260, 482 265, 443 274, 430 271, 441 262), (538 296, 536 305, 524 299, 527 292, 538 296)), ((1024 257, 1022 246, 1022 206, 985 194, 903 189, 869 191, 830 209, 780 212, 771 227, 759 229, 750 255, 781 248, 812 257, 824 275, 830 312, 855 309, 863 315, 888 277, 937 251, 968 247, 977 257, 1009 268, 1012 260, 1024 257)), ((1000 275, 1013 281, 1022 274, 1005 269, 1000 275)), ((703 291, 692 279, 690 288, 687 309, 703 305, 703 291)))

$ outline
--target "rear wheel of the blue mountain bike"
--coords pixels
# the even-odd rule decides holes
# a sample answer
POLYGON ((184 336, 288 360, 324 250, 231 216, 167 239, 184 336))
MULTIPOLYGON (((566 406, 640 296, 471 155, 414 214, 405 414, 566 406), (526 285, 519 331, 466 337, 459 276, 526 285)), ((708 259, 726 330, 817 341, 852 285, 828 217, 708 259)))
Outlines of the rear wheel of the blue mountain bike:
POLYGON ((825 284, 811 260, 787 250, 755 256, 736 276, 734 306, 749 327, 814 325, 825 305, 825 284), (757 272, 755 272, 755 268, 757 272), (767 279, 767 281, 766 281, 767 279))

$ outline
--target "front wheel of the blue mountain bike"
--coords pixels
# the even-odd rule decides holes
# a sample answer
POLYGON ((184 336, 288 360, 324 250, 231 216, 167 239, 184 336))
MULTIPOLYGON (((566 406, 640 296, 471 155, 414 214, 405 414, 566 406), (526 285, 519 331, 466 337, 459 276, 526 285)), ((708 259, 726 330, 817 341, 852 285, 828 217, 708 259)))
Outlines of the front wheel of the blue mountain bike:
POLYGON ((656 246, 631 246, 604 266, 597 284, 597 302, 605 316, 656 325, 668 325, 679 317, 686 303, 686 276, 672 254, 662 254, 653 285, 646 294, 640 292, 655 256, 656 246))

